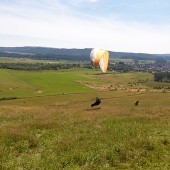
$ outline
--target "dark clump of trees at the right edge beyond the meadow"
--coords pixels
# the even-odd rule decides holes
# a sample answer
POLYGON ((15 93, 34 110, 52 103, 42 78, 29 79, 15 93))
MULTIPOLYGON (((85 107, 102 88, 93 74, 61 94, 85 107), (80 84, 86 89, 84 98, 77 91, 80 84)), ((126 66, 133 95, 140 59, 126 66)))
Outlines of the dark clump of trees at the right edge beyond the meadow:
POLYGON ((170 72, 154 73, 154 80, 158 82, 170 82, 170 72))

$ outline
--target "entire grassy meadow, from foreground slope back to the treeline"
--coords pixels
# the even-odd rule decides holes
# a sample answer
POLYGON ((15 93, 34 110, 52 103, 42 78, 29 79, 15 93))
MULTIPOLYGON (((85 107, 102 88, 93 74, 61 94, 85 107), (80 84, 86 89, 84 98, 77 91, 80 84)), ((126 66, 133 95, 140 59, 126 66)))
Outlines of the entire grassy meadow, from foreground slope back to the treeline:
POLYGON ((169 170, 167 87, 150 73, 1 69, 0 98, 16 99, 0 101, 0 169, 169 170))

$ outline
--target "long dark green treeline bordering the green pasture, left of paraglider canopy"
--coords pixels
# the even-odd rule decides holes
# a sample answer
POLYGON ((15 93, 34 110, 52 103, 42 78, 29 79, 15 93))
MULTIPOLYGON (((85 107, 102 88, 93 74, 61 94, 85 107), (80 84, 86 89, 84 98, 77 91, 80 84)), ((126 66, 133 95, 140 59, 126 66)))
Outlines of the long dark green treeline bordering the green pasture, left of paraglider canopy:
POLYGON ((14 69, 14 70, 60 70, 70 68, 92 68, 90 64, 79 63, 0 63, 0 68, 14 69))

